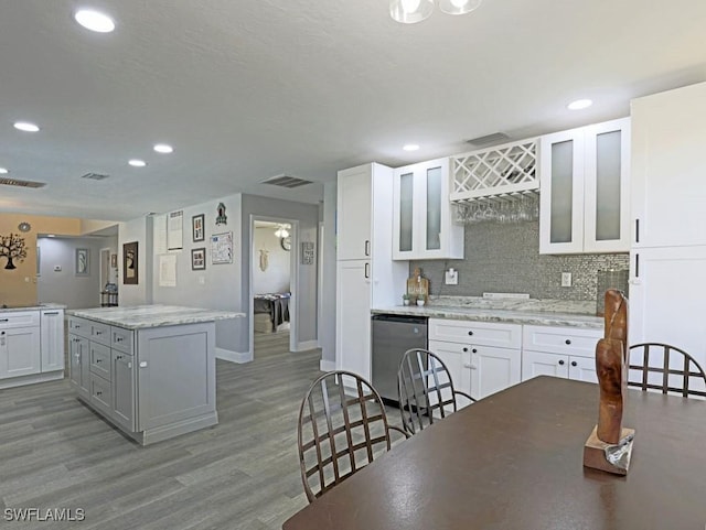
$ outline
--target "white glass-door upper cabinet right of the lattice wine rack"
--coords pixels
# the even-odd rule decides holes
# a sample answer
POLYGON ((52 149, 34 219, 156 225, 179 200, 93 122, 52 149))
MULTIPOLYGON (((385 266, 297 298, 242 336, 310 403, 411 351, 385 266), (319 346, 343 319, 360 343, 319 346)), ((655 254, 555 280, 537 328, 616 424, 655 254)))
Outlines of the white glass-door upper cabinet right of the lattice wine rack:
POLYGON ((539 253, 630 250, 630 119, 539 139, 539 253))

